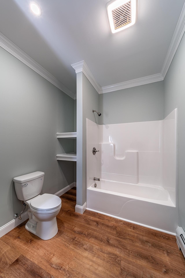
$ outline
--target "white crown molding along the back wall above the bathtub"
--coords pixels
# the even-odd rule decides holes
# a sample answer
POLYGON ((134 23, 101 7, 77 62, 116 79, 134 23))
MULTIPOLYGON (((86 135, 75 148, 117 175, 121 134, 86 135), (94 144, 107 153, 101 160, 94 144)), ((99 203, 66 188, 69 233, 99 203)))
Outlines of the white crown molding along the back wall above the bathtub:
POLYGON ((163 80, 163 77, 161 74, 153 74, 153 75, 113 84, 110 86, 101 87, 99 94, 114 92, 114 91, 118 91, 118 90, 122 90, 122 89, 127 89, 127 88, 145 85, 145 84, 149 84, 149 83, 153 83, 153 82, 158 82, 158 81, 162 81, 162 80, 163 80))

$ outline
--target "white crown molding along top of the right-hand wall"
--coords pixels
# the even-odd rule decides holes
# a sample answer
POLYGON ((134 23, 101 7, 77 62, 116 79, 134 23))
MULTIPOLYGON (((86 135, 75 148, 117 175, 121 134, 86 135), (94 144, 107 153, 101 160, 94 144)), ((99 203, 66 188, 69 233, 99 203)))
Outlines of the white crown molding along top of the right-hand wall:
POLYGON ((173 57, 175 56, 175 52, 177 51, 177 48, 180 44, 182 36, 184 35, 184 32, 185 32, 185 3, 182 8, 168 52, 166 54, 166 58, 164 60, 164 64, 161 69, 161 75, 163 76, 163 79, 166 76, 166 73, 171 65, 171 62, 173 60, 173 57))

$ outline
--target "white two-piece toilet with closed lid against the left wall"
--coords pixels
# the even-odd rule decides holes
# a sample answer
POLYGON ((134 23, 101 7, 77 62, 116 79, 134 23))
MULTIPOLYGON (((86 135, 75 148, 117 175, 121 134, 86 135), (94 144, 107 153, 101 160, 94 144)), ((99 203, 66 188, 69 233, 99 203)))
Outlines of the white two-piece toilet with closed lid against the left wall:
POLYGON ((43 172, 34 172, 13 179, 17 198, 28 205, 29 220, 25 228, 47 240, 58 232, 57 219, 62 201, 53 194, 42 194, 43 172))

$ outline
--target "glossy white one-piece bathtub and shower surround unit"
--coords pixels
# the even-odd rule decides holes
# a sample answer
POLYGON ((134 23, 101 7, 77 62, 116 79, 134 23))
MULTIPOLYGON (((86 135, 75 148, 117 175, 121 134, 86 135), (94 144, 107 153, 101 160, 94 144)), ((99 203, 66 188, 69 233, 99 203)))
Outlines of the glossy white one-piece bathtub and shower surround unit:
POLYGON ((87 209, 175 234, 176 136, 177 109, 162 121, 98 126, 87 120, 87 209), (100 178, 97 187, 93 177, 100 178))

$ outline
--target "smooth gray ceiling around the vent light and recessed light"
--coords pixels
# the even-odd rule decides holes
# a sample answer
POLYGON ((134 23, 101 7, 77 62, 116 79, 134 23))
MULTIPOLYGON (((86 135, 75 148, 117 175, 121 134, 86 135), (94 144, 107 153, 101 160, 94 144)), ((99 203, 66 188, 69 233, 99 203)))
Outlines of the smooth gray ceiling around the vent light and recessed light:
POLYGON ((161 72, 185 0, 138 0, 136 24, 110 32, 107 0, 0 1, 0 32, 76 93, 84 60, 100 87, 161 72))

